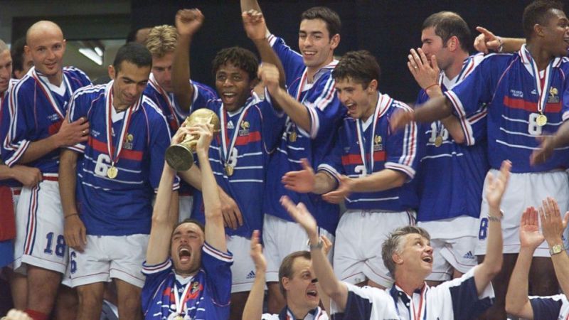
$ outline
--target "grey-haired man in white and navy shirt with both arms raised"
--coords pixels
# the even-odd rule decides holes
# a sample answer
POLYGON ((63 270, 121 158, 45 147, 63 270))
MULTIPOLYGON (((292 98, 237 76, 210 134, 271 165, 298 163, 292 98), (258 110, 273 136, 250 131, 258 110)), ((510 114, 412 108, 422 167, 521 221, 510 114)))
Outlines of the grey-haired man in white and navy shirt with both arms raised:
MULTIPOLYGON (((491 304, 494 297, 490 280, 502 264, 501 198, 509 179, 511 164, 504 161, 497 177, 486 176, 486 200, 489 203, 488 253, 480 265, 459 279, 437 287, 425 284, 432 272, 432 247, 429 234, 422 228, 406 226, 390 233, 383 242, 385 266, 395 278, 389 289, 356 287, 340 282, 320 249, 311 247, 312 266, 322 290, 332 299, 331 314, 339 319, 474 319, 491 304)), ((282 205, 317 243, 317 224, 304 204, 294 205, 283 197, 282 205)))

